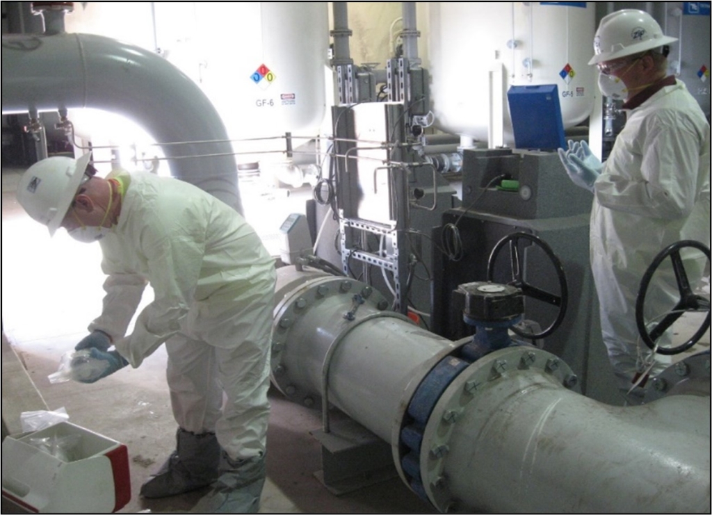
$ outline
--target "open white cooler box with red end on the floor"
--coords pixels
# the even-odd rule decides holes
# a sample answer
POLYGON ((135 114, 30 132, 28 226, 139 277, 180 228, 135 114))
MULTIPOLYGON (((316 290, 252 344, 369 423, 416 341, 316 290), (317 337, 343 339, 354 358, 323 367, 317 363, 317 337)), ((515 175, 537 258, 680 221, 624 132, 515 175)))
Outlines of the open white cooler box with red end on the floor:
POLYGON ((6 437, 2 494, 34 513, 112 513, 131 499, 127 448, 68 422, 6 437))

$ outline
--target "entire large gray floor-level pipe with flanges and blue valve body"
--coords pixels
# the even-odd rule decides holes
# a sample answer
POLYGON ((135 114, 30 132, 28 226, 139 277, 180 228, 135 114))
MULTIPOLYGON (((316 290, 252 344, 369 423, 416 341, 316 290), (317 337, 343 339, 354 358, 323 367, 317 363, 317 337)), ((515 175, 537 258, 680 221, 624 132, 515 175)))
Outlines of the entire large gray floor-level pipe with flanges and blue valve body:
POLYGON ((388 442, 440 511, 709 511, 708 395, 604 405, 553 354, 515 345, 468 361, 466 341, 384 306, 356 280, 279 269, 272 380, 388 442))

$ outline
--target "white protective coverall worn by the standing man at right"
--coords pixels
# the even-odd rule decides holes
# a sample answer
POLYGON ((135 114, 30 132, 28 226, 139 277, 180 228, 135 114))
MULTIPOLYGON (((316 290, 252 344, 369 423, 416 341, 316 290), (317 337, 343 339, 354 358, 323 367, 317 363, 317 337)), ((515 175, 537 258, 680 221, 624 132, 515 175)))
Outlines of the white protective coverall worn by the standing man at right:
MULTIPOLYGON (((614 371, 627 386, 636 372, 635 304, 644 272, 679 240, 710 245, 710 126, 684 83, 672 78, 666 83, 627 111, 594 186, 590 250, 602 336, 614 371)), ((697 256, 689 262, 683 253, 691 281, 701 277, 706 261, 697 256)), ((647 320, 669 312, 679 299, 670 270, 667 292, 646 296, 647 320)))

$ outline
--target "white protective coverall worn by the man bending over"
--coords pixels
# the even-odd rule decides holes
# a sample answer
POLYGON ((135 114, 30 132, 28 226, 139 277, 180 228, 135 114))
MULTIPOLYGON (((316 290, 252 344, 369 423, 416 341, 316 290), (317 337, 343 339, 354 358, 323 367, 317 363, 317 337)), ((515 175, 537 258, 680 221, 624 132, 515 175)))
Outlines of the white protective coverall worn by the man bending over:
POLYGON ((117 225, 100 240, 106 295, 89 330, 110 334, 133 367, 165 342, 178 425, 215 432, 234 460, 263 454, 273 259, 244 218, 209 193, 145 172, 115 179, 125 193, 117 225), (146 282, 155 300, 125 336, 146 282))

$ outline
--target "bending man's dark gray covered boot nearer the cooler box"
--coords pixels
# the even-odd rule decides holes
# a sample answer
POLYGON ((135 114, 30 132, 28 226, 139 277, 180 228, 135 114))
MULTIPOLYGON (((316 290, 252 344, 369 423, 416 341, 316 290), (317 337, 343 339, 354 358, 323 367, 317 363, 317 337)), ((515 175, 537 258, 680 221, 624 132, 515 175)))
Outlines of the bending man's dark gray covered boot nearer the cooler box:
POLYGON ((218 477, 220 444, 215 433, 196 435, 178 429, 176 450, 141 487, 148 499, 184 494, 206 487, 218 477))

